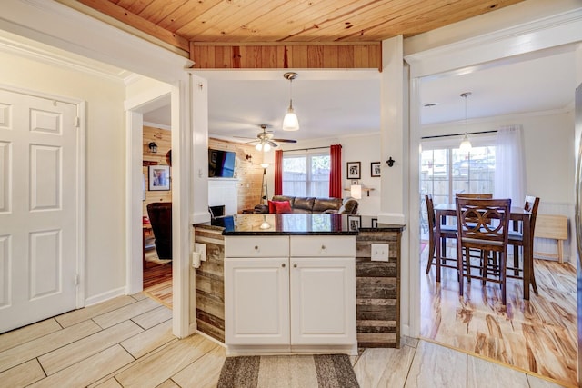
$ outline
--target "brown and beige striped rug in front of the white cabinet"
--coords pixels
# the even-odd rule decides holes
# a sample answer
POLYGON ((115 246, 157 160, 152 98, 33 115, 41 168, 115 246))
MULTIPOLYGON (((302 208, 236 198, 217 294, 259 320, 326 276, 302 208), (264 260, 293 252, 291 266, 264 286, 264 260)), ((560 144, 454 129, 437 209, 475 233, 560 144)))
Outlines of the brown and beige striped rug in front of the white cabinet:
POLYGON ((346 354, 227 357, 218 388, 358 388, 346 354))

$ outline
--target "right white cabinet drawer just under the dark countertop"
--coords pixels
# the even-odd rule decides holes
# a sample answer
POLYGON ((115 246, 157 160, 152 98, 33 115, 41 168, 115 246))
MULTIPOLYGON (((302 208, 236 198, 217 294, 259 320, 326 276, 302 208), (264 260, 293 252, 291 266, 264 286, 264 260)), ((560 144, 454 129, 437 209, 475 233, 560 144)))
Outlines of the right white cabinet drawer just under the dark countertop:
POLYGON ((291 236, 292 257, 355 257, 356 237, 291 236))

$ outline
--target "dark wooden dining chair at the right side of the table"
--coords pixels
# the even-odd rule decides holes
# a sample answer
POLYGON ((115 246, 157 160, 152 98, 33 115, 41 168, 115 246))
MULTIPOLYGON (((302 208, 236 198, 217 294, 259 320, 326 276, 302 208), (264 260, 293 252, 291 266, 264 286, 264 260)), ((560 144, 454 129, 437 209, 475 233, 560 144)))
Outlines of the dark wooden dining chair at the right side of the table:
MULTIPOLYGON (((521 264, 526 265, 526 263, 531 264, 531 285, 534 289, 534 293, 537 293, 537 283, 536 275, 534 273, 534 229, 536 228, 536 217, 537 217, 537 207, 539 206, 539 197, 533 195, 526 195, 526 200, 524 204, 524 209, 531 213, 529 221, 529 254, 530 257, 523 257, 521 264)), ((507 244, 513 245, 513 266, 507 266, 507 277, 514 279, 523 279, 524 267, 520 265, 519 260, 519 248, 524 246, 524 234, 523 231, 519 229, 519 225, 515 225, 508 233, 507 244)))

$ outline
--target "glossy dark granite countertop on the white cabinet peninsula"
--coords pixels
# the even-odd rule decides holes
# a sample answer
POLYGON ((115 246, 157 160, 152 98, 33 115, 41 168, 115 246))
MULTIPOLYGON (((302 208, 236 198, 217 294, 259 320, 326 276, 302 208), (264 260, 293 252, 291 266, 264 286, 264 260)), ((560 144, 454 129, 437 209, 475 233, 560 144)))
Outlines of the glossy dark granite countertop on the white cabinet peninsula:
POLYGON ((377 224, 375 217, 346 214, 236 214, 195 226, 223 230, 224 235, 356 235, 406 229, 406 225, 377 224))

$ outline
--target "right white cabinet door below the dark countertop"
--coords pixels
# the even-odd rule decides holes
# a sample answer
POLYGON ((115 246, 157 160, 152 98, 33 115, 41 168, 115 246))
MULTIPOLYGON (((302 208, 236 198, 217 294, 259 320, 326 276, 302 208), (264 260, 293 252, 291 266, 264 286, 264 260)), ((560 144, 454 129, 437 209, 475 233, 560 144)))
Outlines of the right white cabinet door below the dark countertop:
POLYGON ((356 261, 291 258, 291 344, 356 343, 356 261))

